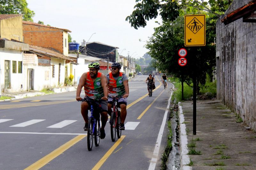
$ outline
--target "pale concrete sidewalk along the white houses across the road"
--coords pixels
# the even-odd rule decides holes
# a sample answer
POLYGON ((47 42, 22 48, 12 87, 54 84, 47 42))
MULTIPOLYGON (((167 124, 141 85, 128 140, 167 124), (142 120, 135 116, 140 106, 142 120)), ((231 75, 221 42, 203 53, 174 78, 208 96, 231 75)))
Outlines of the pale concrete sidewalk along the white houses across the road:
MULTIPOLYGON (((64 87, 55 87, 55 88, 49 88, 52 90, 54 93, 62 93, 62 92, 68 92, 68 91, 75 91, 76 87, 75 86, 64 86, 64 87)), ((45 93, 40 92, 40 91, 35 91, 35 90, 29 90, 29 91, 22 91, 22 92, 2 92, 2 96, 9 96, 12 97, 11 99, 6 99, 6 100, 13 100, 13 99, 21 99, 25 97, 33 97, 33 96, 40 96, 40 95, 45 95, 45 93)), ((5 101, 5 100, 0 100, 0 101, 5 101)))

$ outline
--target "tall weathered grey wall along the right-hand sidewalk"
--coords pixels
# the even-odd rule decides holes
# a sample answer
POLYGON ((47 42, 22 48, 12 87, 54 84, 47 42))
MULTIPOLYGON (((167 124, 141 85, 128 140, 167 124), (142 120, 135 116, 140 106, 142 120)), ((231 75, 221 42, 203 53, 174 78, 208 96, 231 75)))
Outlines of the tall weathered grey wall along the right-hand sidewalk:
MULTIPOLYGON (((225 15, 251 0, 234 0, 225 15)), ((224 15, 220 17, 223 18, 224 15)), ((256 23, 216 23, 220 99, 256 130, 256 23)))

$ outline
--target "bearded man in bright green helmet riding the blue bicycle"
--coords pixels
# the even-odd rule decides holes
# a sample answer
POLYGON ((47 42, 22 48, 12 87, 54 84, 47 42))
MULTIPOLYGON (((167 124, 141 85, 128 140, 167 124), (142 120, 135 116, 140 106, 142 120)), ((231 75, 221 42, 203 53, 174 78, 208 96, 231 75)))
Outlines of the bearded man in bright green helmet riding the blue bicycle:
POLYGON ((88 130, 88 109, 91 109, 91 102, 96 101, 98 108, 101 108, 101 128, 100 128, 100 138, 104 139, 105 125, 108 121, 108 86, 106 76, 99 72, 100 65, 97 62, 91 62, 89 64, 89 72, 85 72, 79 79, 79 83, 76 89, 76 100, 82 100, 80 97, 81 90, 84 87, 85 96, 81 103, 81 113, 85 121, 84 131, 88 130))

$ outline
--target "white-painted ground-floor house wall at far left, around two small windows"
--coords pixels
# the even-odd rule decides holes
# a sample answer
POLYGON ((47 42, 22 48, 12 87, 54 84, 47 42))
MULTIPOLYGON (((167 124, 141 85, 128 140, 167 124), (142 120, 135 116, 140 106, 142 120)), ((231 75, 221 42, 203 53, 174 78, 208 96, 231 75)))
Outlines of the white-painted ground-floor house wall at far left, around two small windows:
POLYGON ((23 84, 23 77, 22 73, 18 73, 18 61, 22 61, 22 51, 19 50, 11 50, 6 48, 0 48, 0 83, 1 83, 1 90, 5 90, 7 92, 18 92, 21 90, 21 84, 23 84), (11 82, 10 89, 4 89, 4 60, 10 60, 9 67, 10 67, 10 74, 9 74, 9 81, 11 82), (12 61, 16 62, 16 73, 12 73, 12 61))

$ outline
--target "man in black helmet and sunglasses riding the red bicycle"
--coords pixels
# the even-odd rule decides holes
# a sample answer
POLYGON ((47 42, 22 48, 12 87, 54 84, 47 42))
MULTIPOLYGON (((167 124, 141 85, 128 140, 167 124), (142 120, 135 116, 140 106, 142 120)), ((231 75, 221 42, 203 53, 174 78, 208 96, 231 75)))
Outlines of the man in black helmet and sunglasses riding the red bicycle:
POLYGON ((128 77, 120 72, 121 64, 114 62, 111 66, 111 72, 106 75, 108 82, 108 114, 111 115, 111 107, 113 107, 112 97, 119 97, 117 106, 121 108, 121 124, 120 130, 125 130, 124 121, 127 115, 126 105, 129 96, 128 77))

